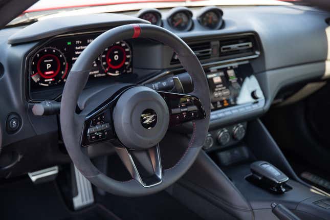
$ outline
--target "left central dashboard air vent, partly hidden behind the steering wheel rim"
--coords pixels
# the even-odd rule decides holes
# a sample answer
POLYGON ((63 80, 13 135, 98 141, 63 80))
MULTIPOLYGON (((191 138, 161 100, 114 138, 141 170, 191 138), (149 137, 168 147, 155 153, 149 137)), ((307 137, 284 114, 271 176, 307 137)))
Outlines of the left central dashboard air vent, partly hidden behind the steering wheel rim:
MULTIPOLYGON (((200 59, 208 59, 212 55, 212 43, 211 41, 204 41, 204 42, 196 42, 196 43, 188 43, 188 46, 194 52, 194 54, 200 59)), ((179 59, 177 54, 173 54, 171 59, 171 64, 179 63, 179 59)))

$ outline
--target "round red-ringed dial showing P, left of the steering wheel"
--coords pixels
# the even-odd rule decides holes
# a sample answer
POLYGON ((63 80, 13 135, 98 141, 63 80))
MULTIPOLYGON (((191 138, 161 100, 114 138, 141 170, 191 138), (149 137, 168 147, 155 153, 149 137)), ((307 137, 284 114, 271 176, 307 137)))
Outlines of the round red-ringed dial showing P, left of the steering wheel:
POLYGON ((65 81, 68 63, 63 53, 52 47, 42 48, 31 60, 31 78, 39 85, 49 86, 65 81))

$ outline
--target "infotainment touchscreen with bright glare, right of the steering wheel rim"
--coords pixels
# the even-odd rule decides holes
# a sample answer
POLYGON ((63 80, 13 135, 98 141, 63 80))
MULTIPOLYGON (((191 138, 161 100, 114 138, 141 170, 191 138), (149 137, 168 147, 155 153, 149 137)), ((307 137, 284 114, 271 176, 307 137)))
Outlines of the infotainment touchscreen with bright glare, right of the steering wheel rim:
POLYGON ((253 69, 249 63, 209 68, 206 76, 210 89, 211 110, 253 102, 250 95, 250 90, 255 88, 250 79, 252 74, 253 69))

